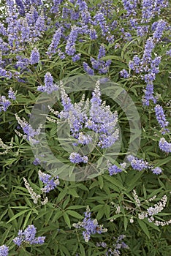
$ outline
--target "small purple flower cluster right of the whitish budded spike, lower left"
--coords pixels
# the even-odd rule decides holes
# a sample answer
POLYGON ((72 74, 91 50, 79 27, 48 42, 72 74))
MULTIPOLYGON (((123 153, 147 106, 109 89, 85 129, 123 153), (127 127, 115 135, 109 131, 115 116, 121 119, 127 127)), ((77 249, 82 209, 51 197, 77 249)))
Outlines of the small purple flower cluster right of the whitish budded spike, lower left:
POLYGON ((42 192, 48 193, 50 192, 50 190, 53 190, 58 186, 58 176, 53 177, 50 174, 42 173, 41 170, 39 170, 38 174, 40 181, 42 181, 42 183, 45 184, 45 187, 41 189, 42 192))

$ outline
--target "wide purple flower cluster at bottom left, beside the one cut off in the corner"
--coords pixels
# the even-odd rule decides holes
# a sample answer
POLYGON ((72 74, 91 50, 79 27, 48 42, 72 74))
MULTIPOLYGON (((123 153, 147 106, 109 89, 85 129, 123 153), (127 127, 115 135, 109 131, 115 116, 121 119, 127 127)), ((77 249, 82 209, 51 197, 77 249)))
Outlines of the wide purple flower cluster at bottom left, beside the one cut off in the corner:
POLYGON ((21 246, 23 243, 43 244, 45 242, 45 236, 35 238, 36 233, 36 227, 34 225, 28 225, 25 230, 18 231, 18 236, 13 239, 13 242, 18 246, 21 246))

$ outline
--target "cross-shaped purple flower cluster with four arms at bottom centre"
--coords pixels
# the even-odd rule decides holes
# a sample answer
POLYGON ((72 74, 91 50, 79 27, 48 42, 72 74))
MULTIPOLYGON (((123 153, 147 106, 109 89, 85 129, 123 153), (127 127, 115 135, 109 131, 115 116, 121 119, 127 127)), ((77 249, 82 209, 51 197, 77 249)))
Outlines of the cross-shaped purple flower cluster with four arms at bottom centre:
POLYGON ((107 229, 103 228, 103 225, 98 225, 96 219, 91 219, 91 212, 89 207, 87 207, 84 215, 85 218, 83 219, 83 222, 74 223, 73 227, 78 229, 83 227, 85 229, 85 231, 83 231, 83 238, 86 241, 86 243, 90 240, 91 235, 96 233, 101 234, 107 232, 107 229))

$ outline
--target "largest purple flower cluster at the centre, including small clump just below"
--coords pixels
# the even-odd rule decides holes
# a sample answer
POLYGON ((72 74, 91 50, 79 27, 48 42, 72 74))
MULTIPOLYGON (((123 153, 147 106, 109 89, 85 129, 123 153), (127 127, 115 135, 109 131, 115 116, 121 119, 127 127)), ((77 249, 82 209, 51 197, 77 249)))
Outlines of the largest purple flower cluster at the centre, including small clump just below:
MULTIPOLYGON (((61 84, 61 103, 64 110, 58 113, 58 118, 68 121, 71 135, 76 139, 75 146, 93 142, 93 138, 87 135, 84 129, 90 129, 99 135, 97 143, 99 148, 110 148, 118 140, 118 129, 115 128, 118 114, 116 111, 112 113, 110 107, 102 102, 100 96, 98 81, 90 102, 89 99, 86 102, 82 100, 73 105, 61 84)), ((82 157, 75 152, 72 152, 69 159, 73 163, 88 162, 88 157, 82 157)))

